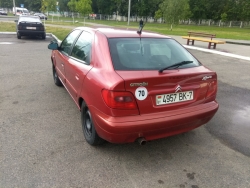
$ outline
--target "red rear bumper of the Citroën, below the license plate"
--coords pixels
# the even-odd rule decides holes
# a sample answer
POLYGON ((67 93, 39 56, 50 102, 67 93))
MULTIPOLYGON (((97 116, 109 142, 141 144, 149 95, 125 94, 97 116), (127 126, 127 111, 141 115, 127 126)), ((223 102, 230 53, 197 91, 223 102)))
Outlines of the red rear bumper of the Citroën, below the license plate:
POLYGON ((154 140, 187 132, 206 124, 218 108, 213 101, 171 112, 112 117, 89 106, 98 135, 112 143, 134 142, 140 137, 154 140))

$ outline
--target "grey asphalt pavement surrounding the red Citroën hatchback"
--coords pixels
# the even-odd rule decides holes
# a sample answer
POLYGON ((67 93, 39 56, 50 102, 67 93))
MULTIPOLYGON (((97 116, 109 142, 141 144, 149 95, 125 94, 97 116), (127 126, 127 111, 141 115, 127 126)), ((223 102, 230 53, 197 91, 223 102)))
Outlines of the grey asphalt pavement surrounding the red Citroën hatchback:
POLYGON ((0 187, 250 187, 250 62, 191 51, 217 71, 207 125, 145 146, 89 146, 52 79, 51 38, 0 35, 0 187))

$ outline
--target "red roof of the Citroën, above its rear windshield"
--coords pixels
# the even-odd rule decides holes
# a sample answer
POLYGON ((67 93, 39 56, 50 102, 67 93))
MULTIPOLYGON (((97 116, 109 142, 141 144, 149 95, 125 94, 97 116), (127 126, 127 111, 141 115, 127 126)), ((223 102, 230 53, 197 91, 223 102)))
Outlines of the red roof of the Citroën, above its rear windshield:
POLYGON ((93 32, 101 32, 107 38, 129 38, 129 37, 141 37, 141 38, 171 38, 158 33, 150 33, 142 30, 141 35, 137 33, 137 30, 126 30, 126 29, 114 29, 114 28, 89 28, 89 27, 77 27, 75 29, 88 30, 93 32))

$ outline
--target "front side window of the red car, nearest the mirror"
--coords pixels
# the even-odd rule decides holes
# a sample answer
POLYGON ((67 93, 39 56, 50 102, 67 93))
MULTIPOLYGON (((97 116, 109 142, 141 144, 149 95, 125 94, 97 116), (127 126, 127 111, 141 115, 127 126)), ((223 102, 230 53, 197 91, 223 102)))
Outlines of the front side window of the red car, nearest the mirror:
POLYGON ((68 55, 71 51, 74 41, 80 34, 80 30, 72 31, 61 43, 60 51, 68 55))

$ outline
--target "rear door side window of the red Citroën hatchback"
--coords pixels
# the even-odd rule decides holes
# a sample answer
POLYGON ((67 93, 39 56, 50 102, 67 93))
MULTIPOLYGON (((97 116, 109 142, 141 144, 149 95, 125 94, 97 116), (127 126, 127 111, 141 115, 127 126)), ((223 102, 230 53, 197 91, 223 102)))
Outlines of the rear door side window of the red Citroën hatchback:
POLYGON ((85 31, 82 32, 73 47, 71 56, 84 61, 86 64, 90 64, 91 42, 92 35, 85 31))

